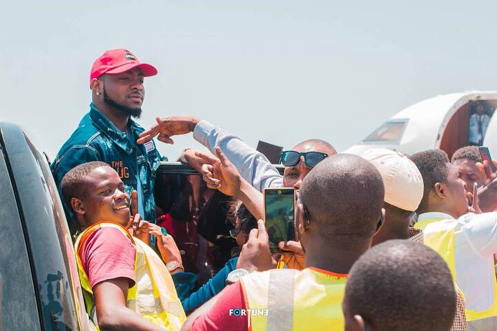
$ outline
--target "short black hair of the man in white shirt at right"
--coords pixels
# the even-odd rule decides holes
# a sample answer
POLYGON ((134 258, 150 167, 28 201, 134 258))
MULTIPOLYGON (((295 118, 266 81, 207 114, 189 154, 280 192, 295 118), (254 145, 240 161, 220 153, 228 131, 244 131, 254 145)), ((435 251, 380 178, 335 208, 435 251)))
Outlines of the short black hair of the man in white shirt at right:
POLYGON ((443 150, 424 150, 411 155, 411 160, 421 172, 425 189, 418 210, 426 210, 428 197, 436 183, 445 183, 449 174, 449 157, 443 150))

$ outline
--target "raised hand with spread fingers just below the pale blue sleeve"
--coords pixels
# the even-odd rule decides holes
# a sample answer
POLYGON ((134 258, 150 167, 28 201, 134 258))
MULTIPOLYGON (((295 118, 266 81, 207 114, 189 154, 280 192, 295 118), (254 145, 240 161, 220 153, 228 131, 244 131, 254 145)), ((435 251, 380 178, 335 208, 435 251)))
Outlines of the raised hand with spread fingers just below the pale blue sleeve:
POLYGON ((237 197, 240 193, 242 177, 219 146, 215 148, 215 153, 217 158, 208 153, 195 152, 195 156, 204 162, 200 174, 208 188, 220 190, 230 197, 237 197))

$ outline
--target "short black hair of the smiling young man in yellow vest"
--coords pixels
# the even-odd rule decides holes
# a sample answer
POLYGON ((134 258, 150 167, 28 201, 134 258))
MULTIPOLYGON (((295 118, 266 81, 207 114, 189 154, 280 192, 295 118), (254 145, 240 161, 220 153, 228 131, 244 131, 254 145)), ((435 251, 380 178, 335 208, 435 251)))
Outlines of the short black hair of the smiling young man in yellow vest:
POLYGON ((85 177, 88 176, 90 172, 100 167, 111 168, 110 165, 105 162, 91 161, 75 166, 75 168, 72 168, 64 175, 61 182, 62 199, 64 199, 64 203, 66 203, 66 206, 71 211, 71 199, 81 199, 84 197, 84 185, 86 184, 85 177))

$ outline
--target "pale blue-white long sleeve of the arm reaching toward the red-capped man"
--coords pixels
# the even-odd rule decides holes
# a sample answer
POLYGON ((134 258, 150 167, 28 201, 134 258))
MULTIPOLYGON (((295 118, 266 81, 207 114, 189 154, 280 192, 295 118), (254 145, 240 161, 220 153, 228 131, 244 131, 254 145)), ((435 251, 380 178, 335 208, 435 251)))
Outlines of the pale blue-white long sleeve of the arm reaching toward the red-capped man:
POLYGON ((282 175, 264 154, 257 152, 255 148, 226 130, 217 128, 208 121, 199 121, 193 130, 193 138, 213 154, 215 154, 215 148, 220 146, 243 179, 257 190, 262 192, 264 188, 283 187, 282 175))

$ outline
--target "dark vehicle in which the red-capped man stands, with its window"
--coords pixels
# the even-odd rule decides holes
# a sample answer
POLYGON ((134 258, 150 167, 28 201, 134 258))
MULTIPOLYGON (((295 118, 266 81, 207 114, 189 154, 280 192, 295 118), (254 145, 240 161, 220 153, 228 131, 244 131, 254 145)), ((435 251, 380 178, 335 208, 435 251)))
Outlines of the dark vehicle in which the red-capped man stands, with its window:
MULTIPOLYGON (((282 168, 280 168, 282 171, 282 168)), ((228 257, 228 198, 189 165, 157 170, 157 221, 169 226, 202 282, 228 257)), ((94 330, 85 311, 66 216, 46 157, 0 122, 0 330, 94 330)))

